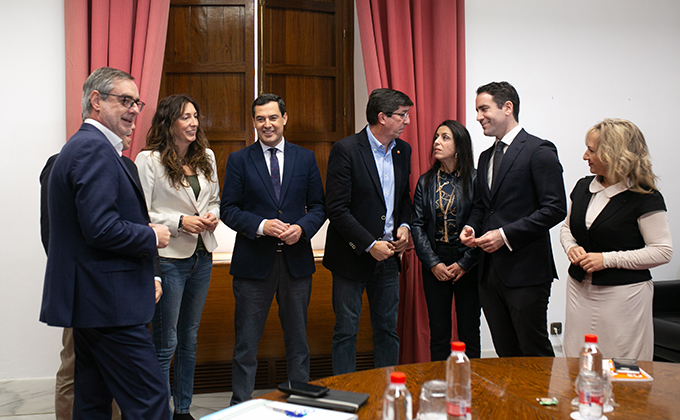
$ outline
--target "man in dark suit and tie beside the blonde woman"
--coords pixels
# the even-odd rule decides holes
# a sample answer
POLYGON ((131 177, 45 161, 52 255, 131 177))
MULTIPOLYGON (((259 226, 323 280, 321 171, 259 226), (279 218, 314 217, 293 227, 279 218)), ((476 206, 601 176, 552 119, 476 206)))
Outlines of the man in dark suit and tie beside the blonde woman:
POLYGON ((476 109, 495 142, 479 157, 475 204, 460 238, 484 251, 479 297, 494 347, 500 357, 554 356, 549 231, 567 214, 557 149, 519 125, 519 95, 508 82, 478 88, 476 109))

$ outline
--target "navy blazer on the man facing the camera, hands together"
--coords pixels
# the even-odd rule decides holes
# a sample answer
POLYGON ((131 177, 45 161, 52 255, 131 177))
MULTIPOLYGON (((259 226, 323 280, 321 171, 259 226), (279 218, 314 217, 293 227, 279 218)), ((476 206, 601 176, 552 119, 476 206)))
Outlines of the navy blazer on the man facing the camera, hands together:
POLYGON ((263 219, 300 225, 300 240, 284 246, 288 269, 296 278, 316 270, 309 240, 326 220, 319 167, 310 150, 286 142, 284 153, 280 200, 259 142, 229 155, 220 215, 237 233, 229 270, 234 277, 263 279, 271 272, 279 240, 256 236, 263 219))

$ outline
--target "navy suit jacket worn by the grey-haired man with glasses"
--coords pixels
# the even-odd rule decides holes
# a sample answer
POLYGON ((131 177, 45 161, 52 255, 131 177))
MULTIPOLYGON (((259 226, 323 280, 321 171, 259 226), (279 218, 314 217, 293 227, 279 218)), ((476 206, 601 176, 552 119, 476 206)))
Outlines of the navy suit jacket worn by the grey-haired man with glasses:
POLYGON ((156 235, 144 194, 90 124, 49 177, 49 255, 40 320, 62 327, 146 324, 154 312, 156 235))

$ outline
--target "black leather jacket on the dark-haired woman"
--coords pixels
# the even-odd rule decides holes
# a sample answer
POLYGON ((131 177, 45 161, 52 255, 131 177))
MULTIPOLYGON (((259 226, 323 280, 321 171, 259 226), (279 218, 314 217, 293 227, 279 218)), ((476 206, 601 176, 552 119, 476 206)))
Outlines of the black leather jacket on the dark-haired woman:
MULTIPOLYGON (((435 229, 437 225, 437 216, 435 214, 435 199, 437 189, 436 174, 430 181, 430 185, 425 185, 426 174, 423 174, 418 179, 415 193, 413 194, 413 227, 411 228, 411 235, 413 236, 413 244, 416 248, 416 254, 425 269, 431 269, 435 265, 442 262, 435 249, 435 229)), ((467 192, 463 190, 462 181, 459 177, 454 178, 454 188, 456 195, 454 198, 453 207, 456 209, 456 226, 461 230, 465 226, 470 212, 472 212, 473 200, 475 197, 475 189, 477 188, 477 171, 472 170, 472 179, 468 186, 467 192)), ((468 248, 460 242, 459 238, 455 238, 458 245, 458 260, 456 261, 460 268, 465 271, 470 271, 479 260, 479 248, 468 248)))

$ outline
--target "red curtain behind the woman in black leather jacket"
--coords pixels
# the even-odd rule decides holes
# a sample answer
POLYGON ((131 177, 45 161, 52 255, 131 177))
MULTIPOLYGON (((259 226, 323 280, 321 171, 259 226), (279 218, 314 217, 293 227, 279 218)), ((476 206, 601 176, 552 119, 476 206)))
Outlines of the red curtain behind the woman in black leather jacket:
MULTIPOLYGON (((411 190, 431 165, 435 128, 465 122, 464 0, 356 0, 368 92, 400 90, 414 102, 402 139, 413 148, 411 190)), ((413 246, 400 278, 400 362, 430 360, 420 261, 413 246)), ((454 323, 455 325, 455 323, 454 323)))

